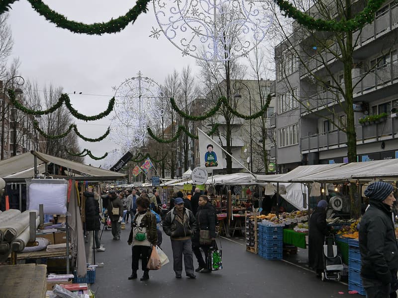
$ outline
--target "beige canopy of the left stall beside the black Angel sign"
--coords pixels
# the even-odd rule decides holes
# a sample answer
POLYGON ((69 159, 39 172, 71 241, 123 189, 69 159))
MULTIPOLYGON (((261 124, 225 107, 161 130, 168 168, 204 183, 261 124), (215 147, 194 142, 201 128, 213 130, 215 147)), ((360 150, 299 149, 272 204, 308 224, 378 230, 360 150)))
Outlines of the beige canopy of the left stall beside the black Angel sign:
MULTIPOLYGON (((7 182, 25 182, 25 179, 34 177, 34 156, 37 157, 37 170, 39 174, 46 171, 45 164, 53 163, 68 169, 76 180, 117 180, 126 175, 83 164, 80 162, 30 151, 0 160, 0 177, 7 182)), ((54 176, 54 175, 52 175, 54 176)), ((65 176, 57 176, 57 178, 65 176)))

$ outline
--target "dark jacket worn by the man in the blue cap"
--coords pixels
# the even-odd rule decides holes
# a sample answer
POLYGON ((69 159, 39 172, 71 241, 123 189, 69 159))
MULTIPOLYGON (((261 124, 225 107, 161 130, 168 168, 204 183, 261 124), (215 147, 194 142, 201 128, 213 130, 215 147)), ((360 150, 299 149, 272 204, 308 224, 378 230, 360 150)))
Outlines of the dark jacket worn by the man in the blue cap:
POLYGON ((183 219, 177 215, 177 210, 173 208, 163 220, 163 230, 172 240, 190 239, 196 231, 196 219, 192 212, 186 208, 183 210, 183 219), (187 216, 187 211, 189 217, 187 216), (173 221, 171 214, 174 214, 173 221))

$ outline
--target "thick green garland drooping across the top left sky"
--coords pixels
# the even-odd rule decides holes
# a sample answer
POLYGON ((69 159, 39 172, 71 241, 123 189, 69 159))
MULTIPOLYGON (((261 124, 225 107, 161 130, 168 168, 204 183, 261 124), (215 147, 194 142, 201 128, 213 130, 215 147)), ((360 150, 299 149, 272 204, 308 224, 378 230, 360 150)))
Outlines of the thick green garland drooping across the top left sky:
MULTIPOLYGON (((0 13, 8 11, 10 4, 15 0, 2 0, 0 4, 0 13)), ((123 30, 129 23, 134 23, 137 17, 142 12, 147 12, 147 5, 150 0, 138 0, 134 7, 132 7, 125 15, 119 16, 115 19, 111 18, 106 23, 85 24, 81 22, 69 21, 66 16, 50 9, 41 0, 28 0, 33 9, 44 16, 46 20, 54 23, 57 27, 67 29, 74 33, 97 34, 116 33, 123 30)))

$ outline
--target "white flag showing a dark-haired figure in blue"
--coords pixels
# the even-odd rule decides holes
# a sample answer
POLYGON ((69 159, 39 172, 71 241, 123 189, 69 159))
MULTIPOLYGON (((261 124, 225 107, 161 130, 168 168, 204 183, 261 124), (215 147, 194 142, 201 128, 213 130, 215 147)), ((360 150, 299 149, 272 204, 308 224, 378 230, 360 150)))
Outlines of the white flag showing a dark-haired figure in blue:
POLYGON ((225 159, 222 158, 221 146, 200 129, 198 129, 198 137, 200 167, 205 167, 206 169, 223 169, 225 167, 225 159))

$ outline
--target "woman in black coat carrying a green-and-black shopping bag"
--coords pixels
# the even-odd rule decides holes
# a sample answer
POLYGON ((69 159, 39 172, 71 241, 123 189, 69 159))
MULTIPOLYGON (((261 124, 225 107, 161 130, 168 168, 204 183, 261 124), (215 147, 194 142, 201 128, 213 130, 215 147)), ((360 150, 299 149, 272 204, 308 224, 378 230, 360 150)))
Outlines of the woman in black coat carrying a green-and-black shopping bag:
POLYGON ((199 207, 196 214, 197 231, 192 240, 192 250, 198 260, 199 267, 195 269, 196 272, 209 273, 208 269, 208 250, 211 247, 211 243, 215 240, 216 236, 216 225, 218 225, 217 215, 215 214, 215 208, 209 202, 207 196, 199 197, 199 207), (203 250, 205 259, 200 252, 200 248, 203 250))

